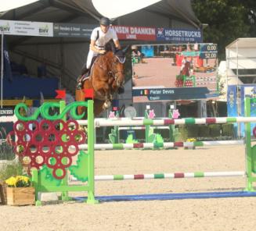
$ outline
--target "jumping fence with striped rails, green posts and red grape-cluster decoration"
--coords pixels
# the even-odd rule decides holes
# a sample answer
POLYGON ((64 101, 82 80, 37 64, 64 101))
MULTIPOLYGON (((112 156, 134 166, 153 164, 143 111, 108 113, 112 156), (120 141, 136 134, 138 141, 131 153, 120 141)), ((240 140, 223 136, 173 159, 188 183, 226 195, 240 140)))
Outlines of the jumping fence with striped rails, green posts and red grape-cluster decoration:
MULTIPOLYGON (((20 116, 20 108, 26 105, 20 104, 15 108, 16 116, 20 119, 15 123, 15 150, 20 157, 29 157, 31 165, 34 169, 32 173, 32 182, 35 188, 36 204, 41 204, 38 197, 39 192, 61 192, 63 201, 67 201, 69 191, 87 191, 87 203, 96 204, 95 198, 95 181, 96 180, 117 180, 117 179, 164 179, 164 178, 184 178, 184 177, 217 177, 217 176, 244 176, 247 179, 247 192, 253 192, 253 183, 256 181, 254 173, 256 172, 256 146, 251 146, 251 122, 256 122, 256 117, 251 117, 251 103, 256 103, 256 99, 246 98, 245 100, 245 117, 225 117, 225 118, 204 118, 204 119, 94 119, 93 101, 74 102, 71 105, 61 101, 57 103, 45 103, 34 112, 33 116, 20 116), (84 115, 77 115, 76 108, 83 106, 87 108, 88 120, 81 120, 84 115), (49 109, 52 107, 59 108, 59 115, 50 115, 49 109), (66 122, 66 114, 70 112, 70 116, 75 120, 66 122), (36 122, 39 114, 45 118, 40 123, 36 122), (33 123, 36 127, 32 132, 29 130, 29 124, 33 123), (175 124, 209 124, 209 123, 246 123, 246 165, 245 171, 235 172, 177 172, 177 173, 155 173, 155 174, 139 174, 139 175, 114 175, 114 176, 95 176, 94 151, 99 147, 95 144, 95 127, 96 126, 170 126, 175 124), (78 124, 87 125, 87 144, 85 137, 79 131, 78 124), (19 126, 18 126, 19 125, 19 126), (46 127, 46 129, 45 129, 46 127), (70 127, 74 128, 73 130, 70 127), (21 130, 20 130, 21 128, 21 130), (23 129, 22 129, 23 128, 23 129), (23 142, 23 137, 28 135, 31 137, 30 142, 23 142), (41 137, 41 138, 40 138, 41 137), (19 147, 19 148, 18 148, 19 147), (23 148, 20 148, 23 147, 23 148), (33 148, 32 148, 33 147, 33 148), (37 151, 34 151, 37 150, 37 151), (87 151, 81 151, 86 149, 87 151), (78 154, 77 165, 72 163, 72 157, 78 154), (41 162, 37 162, 36 158, 40 156, 41 162), (70 185, 67 170, 73 180, 86 182, 86 185, 70 185)), ((256 132, 254 132, 256 133, 256 132)), ((184 142, 176 144, 177 147, 184 145, 219 145, 232 144, 230 142, 184 142), (193 143, 193 144, 190 144, 193 143)), ((241 142, 236 142, 241 144, 241 142)), ((143 148, 152 147, 153 144, 103 144, 106 149, 123 149, 123 148, 143 148), (109 145, 109 146, 106 146, 109 145), (112 146, 110 146, 112 145, 112 146), (126 145, 126 146, 125 146, 126 145), (147 146, 149 145, 149 146, 147 146)), ((168 144, 175 147, 175 142, 168 144)), ((251 194, 250 194, 251 195, 251 194)))

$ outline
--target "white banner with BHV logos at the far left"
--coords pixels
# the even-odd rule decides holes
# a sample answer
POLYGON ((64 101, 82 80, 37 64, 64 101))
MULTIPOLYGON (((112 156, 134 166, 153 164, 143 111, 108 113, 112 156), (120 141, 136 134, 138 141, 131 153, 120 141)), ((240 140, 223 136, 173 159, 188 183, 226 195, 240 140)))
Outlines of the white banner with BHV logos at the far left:
POLYGON ((52 23, 0 20, 0 31, 10 35, 53 36, 52 23))

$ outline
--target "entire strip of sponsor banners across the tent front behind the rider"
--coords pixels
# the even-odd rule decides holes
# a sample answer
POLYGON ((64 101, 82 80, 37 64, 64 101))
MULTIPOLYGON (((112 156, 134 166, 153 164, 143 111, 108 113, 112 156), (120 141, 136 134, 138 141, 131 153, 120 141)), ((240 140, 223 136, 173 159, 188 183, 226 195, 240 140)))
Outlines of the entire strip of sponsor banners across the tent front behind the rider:
MULTIPOLYGON (((0 20, 0 31, 4 34, 25 36, 90 38, 95 27, 99 27, 99 25, 0 20)), ((174 43, 200 43, 203 41, 201 30, 117 25, 112 27, 120 40, 168 41, 174 43)))

